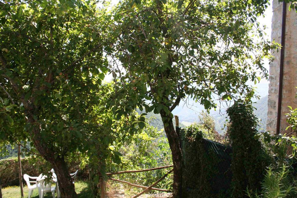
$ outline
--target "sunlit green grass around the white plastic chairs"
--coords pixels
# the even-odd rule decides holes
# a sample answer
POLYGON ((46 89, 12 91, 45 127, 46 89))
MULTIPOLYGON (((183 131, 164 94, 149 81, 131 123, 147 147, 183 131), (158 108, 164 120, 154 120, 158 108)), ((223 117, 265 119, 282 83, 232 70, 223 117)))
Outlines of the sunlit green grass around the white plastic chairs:
MULTIPOLYGON (((24 197, 28 197, 28 188, 24 186, 24 197)), ((79 198, 83 197, 92 197, 91 190, 89 189, 88 183, 84 181, 75 182, 75 191, 78 194, 79 198)), ((20 197, 20 187, 19 186, 10 186, 2 189, 3 198, 19 198, 20 197)), ((52 198, 50 193, 45 194, 45 198, 52 198)), ((56 194, 57 197, 57 194, 56 194)), ((38 189, 34 189, 31 198, 39 198, 38 189)))

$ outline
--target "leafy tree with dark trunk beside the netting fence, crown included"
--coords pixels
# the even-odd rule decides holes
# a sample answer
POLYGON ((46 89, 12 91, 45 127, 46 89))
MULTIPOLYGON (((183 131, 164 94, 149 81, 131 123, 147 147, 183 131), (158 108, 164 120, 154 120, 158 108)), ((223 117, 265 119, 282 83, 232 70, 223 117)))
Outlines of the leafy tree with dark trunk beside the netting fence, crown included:
POLYGON ((267 77, 262 61, 271 58, 272 45, 256 22, 267 3, 121 1, 107 16, 112 44, 104 50, 114 60, 116 93, 109 102, 126 107, 117 115, 136 107, 161 115, 173 156, 173 197, 181 196, 182 154, 171 112, 187 97, 209 110, 215 99, 254 95, 247 82, 267 77))

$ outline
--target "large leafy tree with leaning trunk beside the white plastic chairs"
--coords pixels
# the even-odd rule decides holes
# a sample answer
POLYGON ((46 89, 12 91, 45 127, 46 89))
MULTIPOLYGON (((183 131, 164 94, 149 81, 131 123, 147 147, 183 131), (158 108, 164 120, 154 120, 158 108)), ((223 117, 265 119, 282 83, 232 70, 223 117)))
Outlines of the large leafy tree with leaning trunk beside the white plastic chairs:
POLYGON ((94 1, 0 2, 0 96, 15 101, 0 112, 0 136, 29 138, 62 197, 76 197, 64 157, 88 140, 107 71, 99 16, 94 1))

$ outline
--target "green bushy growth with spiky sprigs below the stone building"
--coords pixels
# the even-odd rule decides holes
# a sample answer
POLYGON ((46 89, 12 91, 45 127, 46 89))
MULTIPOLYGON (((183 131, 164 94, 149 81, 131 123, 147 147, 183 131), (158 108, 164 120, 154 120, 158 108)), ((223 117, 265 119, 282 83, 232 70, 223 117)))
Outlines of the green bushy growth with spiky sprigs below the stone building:
POLYGON ((273 160, 261 182, 262 189, 260 191, 247 189, 247 195, 259 198, 297 197, 296 137, 287 137, 286 134, 274 135, 270 132, 258 133, 258 137, 262 139, 266 153, 273 160))

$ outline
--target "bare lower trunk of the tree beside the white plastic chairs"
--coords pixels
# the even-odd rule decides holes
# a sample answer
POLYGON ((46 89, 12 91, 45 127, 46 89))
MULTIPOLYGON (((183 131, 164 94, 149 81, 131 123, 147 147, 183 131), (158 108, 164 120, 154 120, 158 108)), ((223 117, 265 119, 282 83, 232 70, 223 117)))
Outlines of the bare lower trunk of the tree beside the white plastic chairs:
POLYGON ((54 161, 50 161, 50 163, 57 175, 61 196, 63 198, 77 197, 64 157, 58 156, 54 161))

